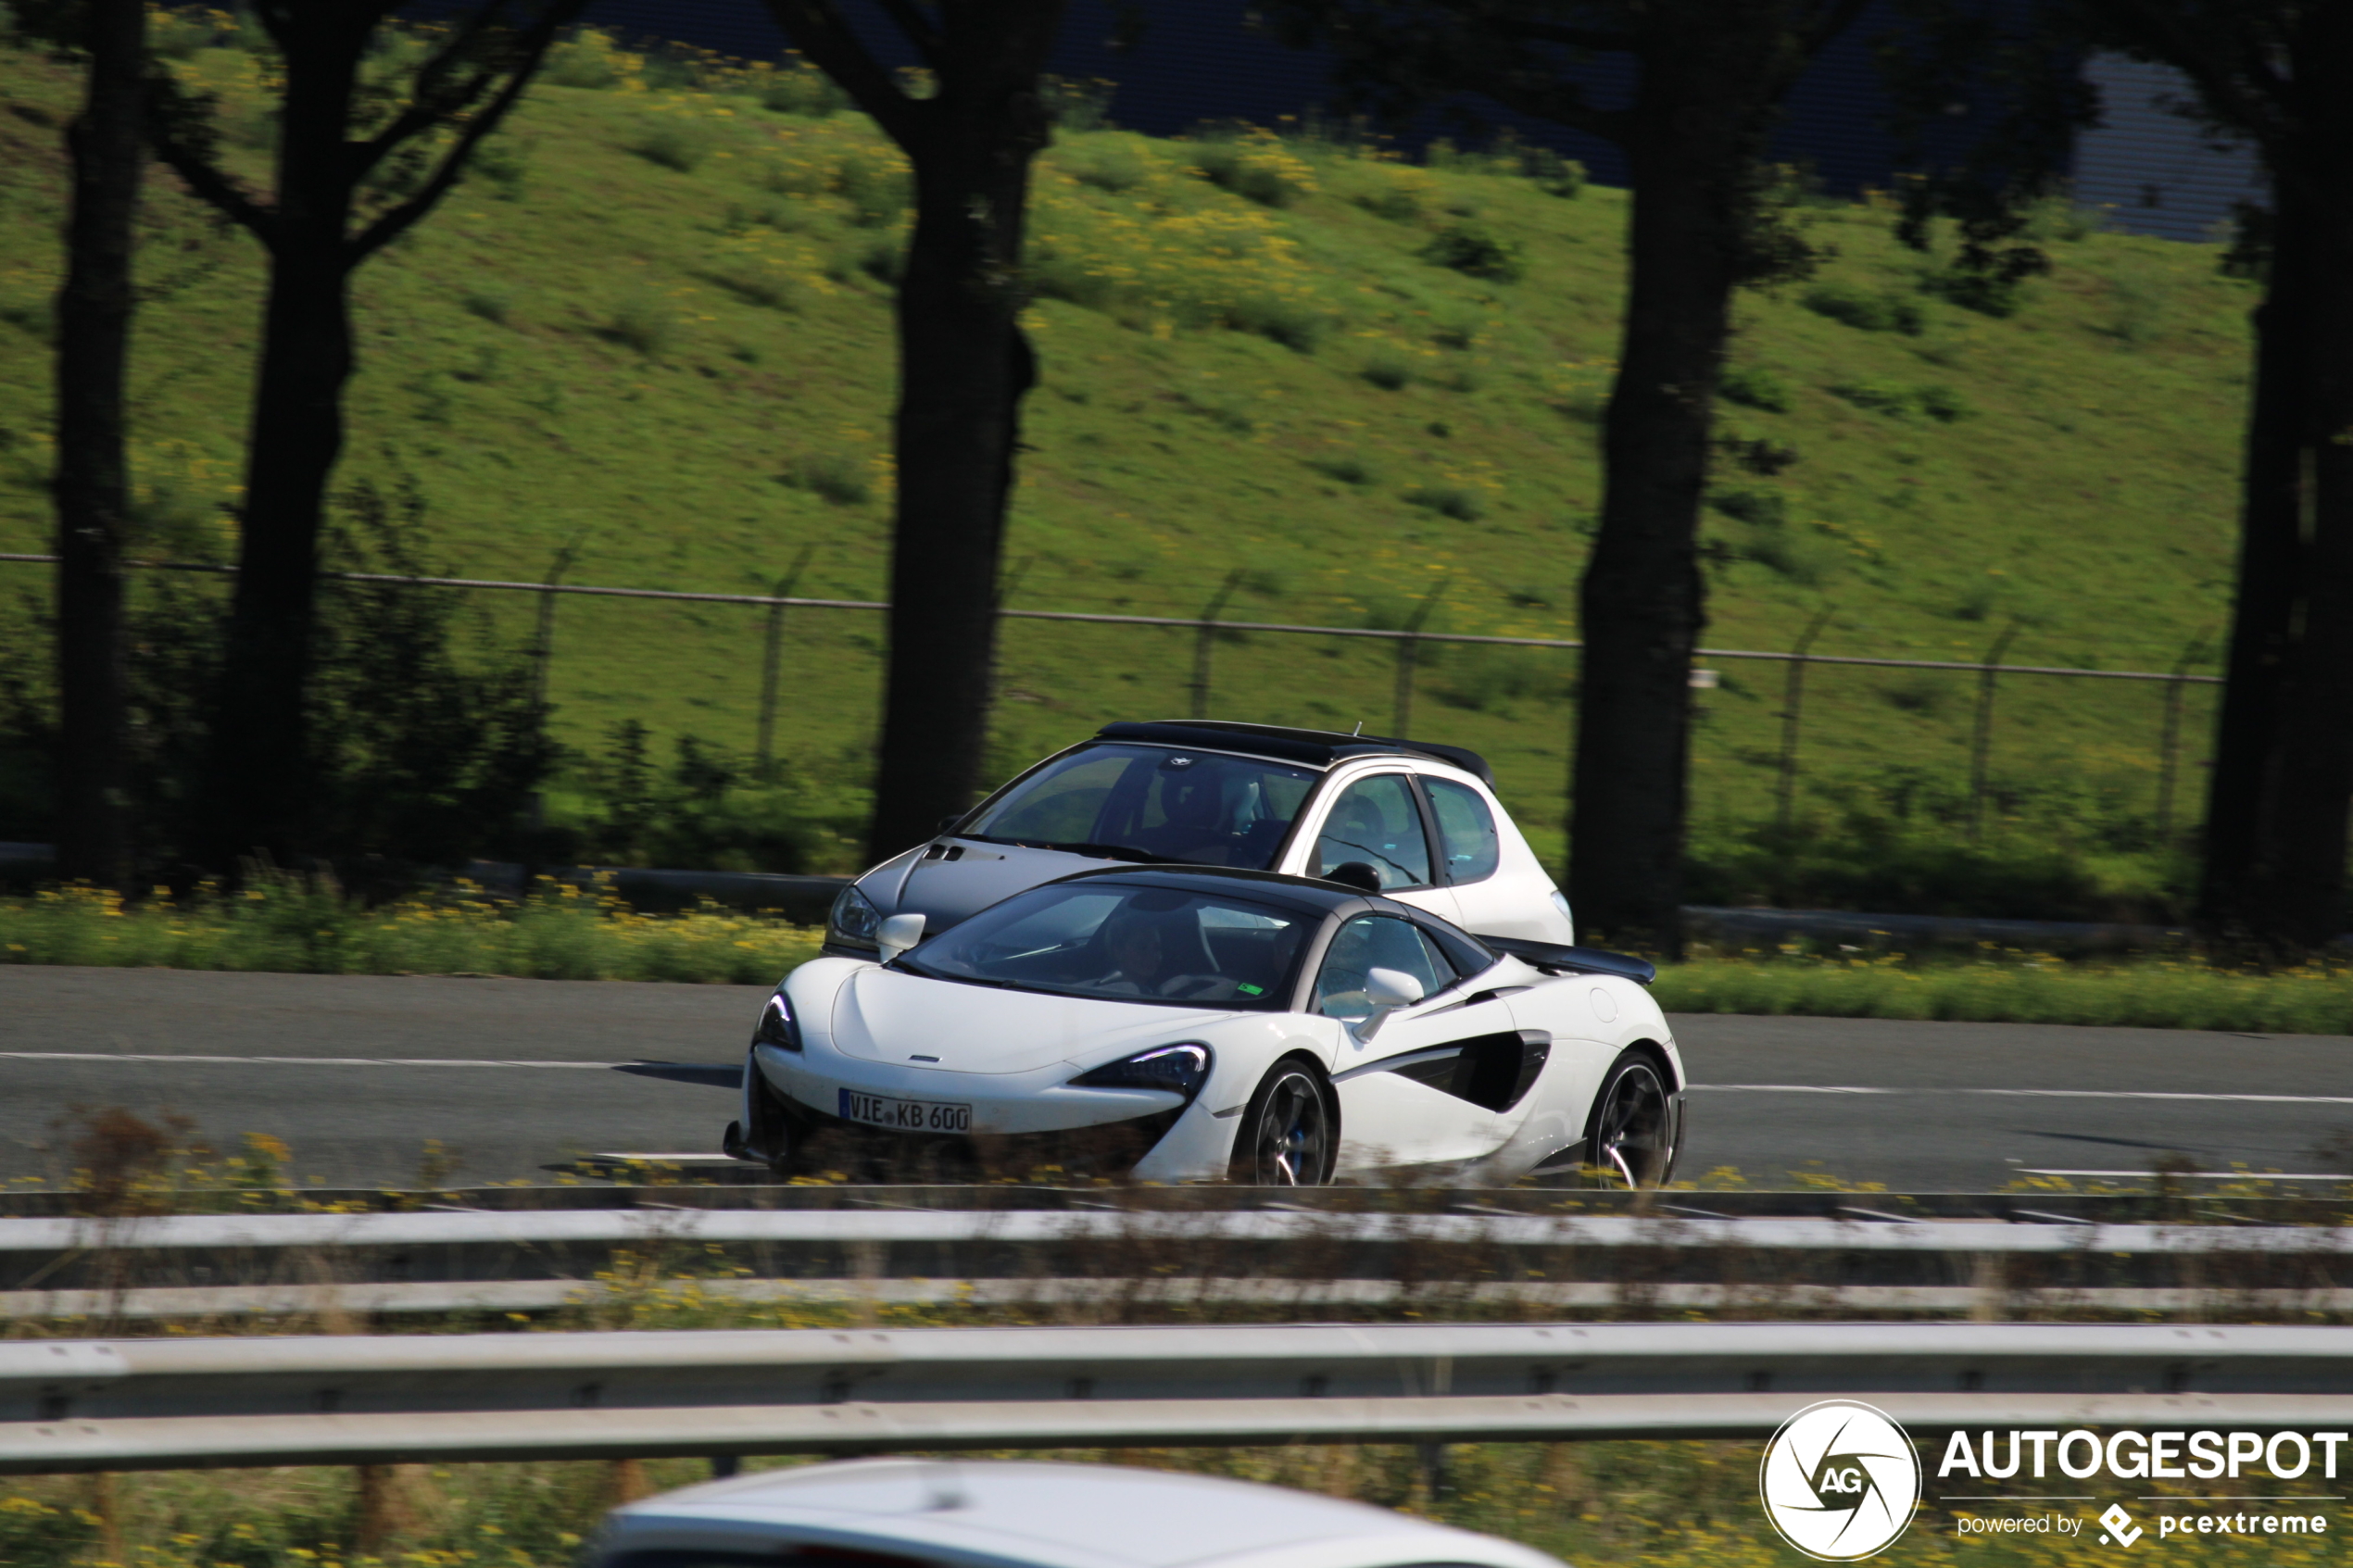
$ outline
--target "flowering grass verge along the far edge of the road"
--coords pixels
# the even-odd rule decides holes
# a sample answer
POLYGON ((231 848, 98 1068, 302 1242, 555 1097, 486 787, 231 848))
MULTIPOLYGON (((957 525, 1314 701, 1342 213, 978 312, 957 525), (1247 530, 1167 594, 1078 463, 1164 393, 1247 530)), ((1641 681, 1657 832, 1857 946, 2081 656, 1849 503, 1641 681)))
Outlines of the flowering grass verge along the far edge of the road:
MULTIPOLYGON (((609 893, 555 882, 520 903, 459 889, 374 910, 292 877, 186 903, 127 905, 92 889, 0 898, 5 964, 769 985, 816 957, 816 931, 772 914, 640 914, 609 893)), ((1671 1013, 2353 1034, 2353 971, 2329 964, 2254 973, 2198 959, 2061 964, 2014 952, 1974 961, 1741 954, 1666 966, 1654 994, 1671 1013)))

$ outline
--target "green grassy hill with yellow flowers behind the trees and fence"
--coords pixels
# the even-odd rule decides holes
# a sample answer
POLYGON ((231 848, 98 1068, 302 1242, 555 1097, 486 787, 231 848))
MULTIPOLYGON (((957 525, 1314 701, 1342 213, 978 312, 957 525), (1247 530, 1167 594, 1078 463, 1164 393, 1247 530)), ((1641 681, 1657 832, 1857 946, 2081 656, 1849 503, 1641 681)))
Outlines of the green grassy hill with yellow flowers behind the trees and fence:
MULTIPOLYGON (((254 59, 184 42, 179 68, 224 94, 259 172, 254 59)), ((0 550, 38 550, 73 80, 0 54, 0 550)), ((572 45, 482 172, 358 275, 344 480, 414 489, 452 574, 536 578, 576 543, 572 581, 760 592, 812 548, 800 592, 880 597, 906 174, 871 125, 826 108, 800 73, 696 82, 572 45)), ((1511 158, 1417 167, 1315 136, 1064 132, 1038 172, 1042 386, 1012 602, 1188 616, 1238 574, 1235 618, 1398 625, 1435 592, 1433 630, 1574 635, 1626 195, 1558 183, 1511 158)), ((1885 205, 1805 221, 1833 252, 1821 273, 1737 313, 1722 425, 1755 468, 1781 465, 1720 465, 1708 646, 1781 649, 1828 611, 1821 654, 1967 661, 2017 625, 2014 663, 2172 668, 2224 625, 2252 296, 2212 249, 2052 214, 2054 273, 1995 317, 1937 292, 1939 261, 1894 244, 1885 205)), ((228 559, 259 254, 162 174, 146 226, 151 548, 228 559)), ((0 574, 24 649, 38 574, 0 574)), ((522 635, 520 597, 480 597, 522 635)), ((805 813, 856 816, 880 630, 854 611, 788 625, 779 736, 805 813)), ((565 602, 562 736, 593 750, 640 719, 659 745, 748 750, 758 637, 746 609, 565 602)), ((1781 670, 1711 663, 1701 891, 2148 907, 2177 875, 2151 823, 2155 686, 2005 682, 1998 813, 1969 849, 1974 677, 1817 668, 1798 853, 1753 832, 1772 816, 1781 670), (1817 882, 1788 882, 1800 860, 1817 882)), ((1179 715, 1188 677, 1186 632, 1012 623, 995 757, 1179 715)), ((1572 677, 1562 654, 1447 649, 1417 684, 1414 731, 1494 757, 1553 856, 1572 677)), ((1212 708, 1384 729, 1391 679, 1379 646, 1228 637, 1212 708)), ((2209 691, 2186 708, 2177 825, 2202 795, 2209 691)))

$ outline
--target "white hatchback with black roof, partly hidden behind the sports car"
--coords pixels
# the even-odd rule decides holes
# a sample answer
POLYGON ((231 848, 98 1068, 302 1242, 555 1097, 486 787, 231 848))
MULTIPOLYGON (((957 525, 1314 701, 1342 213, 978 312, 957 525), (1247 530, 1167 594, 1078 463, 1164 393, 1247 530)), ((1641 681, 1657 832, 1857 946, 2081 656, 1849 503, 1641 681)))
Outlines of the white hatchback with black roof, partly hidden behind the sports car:
POLYGON ((1478 936, 1577 943, 1478 752, 1193 719, 1106 724, 941 823, 842 889, 826 952, 873 957, 892 914, 939 933, 1104 860, 1322 877, 1478 936))

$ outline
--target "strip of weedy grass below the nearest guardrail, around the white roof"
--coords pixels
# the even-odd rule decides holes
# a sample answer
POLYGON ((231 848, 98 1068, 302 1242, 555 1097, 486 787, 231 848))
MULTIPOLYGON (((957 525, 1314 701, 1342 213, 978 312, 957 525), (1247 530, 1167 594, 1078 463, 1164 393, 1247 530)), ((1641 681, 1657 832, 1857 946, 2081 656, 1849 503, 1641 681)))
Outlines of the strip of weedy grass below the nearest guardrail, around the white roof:
MULTIPOLYGON (((1409 1446, 960 1458, 1120 1462, 1273 1481, 1489 1530, 1572 1563, 1781 1568, 1793 1554, 1758 1507, 1758 1448, 1753 1441, 1457 1443, 1440 1469, 1426 1467, 1409 1446)), ((1925 1474, 1934 1474, 1937 1455, 1934 1443, 1922 1443, 1925 1474)), ((748 1460, 746 1469, 795 1462, 748 1460)), ((598 1514, 624 1490, 666 1490, 708 1474, 704 1460, 414 1465, 388 1474, 374 1507, 362 1507, 351 1469, 238 1472, 233 1483, 205 1472, 21 1479, 0 1483, 0 1559, 14 1568, 94 1561, 136 1568, 555 1568, 576 1561, 598 1514)), ((2167 1502, 2172 1507, 2155 1507, 2217 1509, 2195 1500, 2167 1502)), ((2134 1507, 2148 1523, 2151 1505, 2134 1507)), ((2094 1505, 2068 1502, 2059 1512, 2085 1519, 2094 1505)), ((2306 1512, 2329 1509, 2315 1500, 2306 1512)), ((1962 1554, 1981 1568, 2082 1561, 2080 1537, 2071 1535, 1960 1537, 1955 1509, 1937 1497, 1878 1561, 1887 1568, 1941 1566, 1962 1554)), ((2325 1554, 2327 1537, 2311 1535, 2205 1535, 2198 1542, 2200 1561, 2231 1568, 2289 1568, 2325 1554)))

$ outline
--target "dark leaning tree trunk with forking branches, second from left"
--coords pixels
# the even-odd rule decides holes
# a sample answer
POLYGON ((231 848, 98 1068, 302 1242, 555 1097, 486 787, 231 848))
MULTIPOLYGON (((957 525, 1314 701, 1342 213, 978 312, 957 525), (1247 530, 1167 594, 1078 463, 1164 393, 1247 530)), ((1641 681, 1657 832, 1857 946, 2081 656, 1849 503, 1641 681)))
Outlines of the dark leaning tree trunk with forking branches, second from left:
POLYGON ((344 230, 353 181, 344 136, 360 47, 348 38, 289 40, 285 59, 261 374, 205 799, 202 853, 212 865, 256 851, 285 858, 304 844, 318 536, 351 378, 344 230))

